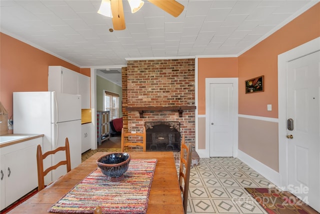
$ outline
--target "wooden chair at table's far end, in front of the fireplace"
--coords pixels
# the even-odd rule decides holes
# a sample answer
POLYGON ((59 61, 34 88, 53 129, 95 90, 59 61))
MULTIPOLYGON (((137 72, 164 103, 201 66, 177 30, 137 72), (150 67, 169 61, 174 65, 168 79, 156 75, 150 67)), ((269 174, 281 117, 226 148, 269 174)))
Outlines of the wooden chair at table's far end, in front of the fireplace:
POLYGON ((121 130, 121 151, 124 152, 124 146, 142 146, 143 151, 145 151, 146 147, 146 137, 145 137, 145 127, 143 126, 142 133, 131 133, 131 132, 124 132, 123 128, 121 130), (136 137, 137 136, 137 137, 136 137), (139 142, 131 142, 129 138, 138 139, 140 138, 139 142))

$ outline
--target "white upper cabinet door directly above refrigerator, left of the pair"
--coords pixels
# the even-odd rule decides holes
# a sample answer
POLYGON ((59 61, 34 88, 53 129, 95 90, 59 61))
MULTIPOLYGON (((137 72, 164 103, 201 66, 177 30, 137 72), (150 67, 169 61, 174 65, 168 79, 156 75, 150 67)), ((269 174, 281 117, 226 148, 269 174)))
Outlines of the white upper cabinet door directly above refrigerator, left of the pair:
POLYGON ((78 94, 78 75, 76 72, 62 68, 62 93, 78 94))

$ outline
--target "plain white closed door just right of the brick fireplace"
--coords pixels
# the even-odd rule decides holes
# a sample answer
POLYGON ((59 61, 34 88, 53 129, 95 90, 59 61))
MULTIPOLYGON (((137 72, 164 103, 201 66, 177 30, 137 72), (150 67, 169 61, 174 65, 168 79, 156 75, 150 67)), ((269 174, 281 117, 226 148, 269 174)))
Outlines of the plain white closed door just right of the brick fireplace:
POLYGON ((209 88, 210 157, 232 157, 233 84, 211 83, 209 88))

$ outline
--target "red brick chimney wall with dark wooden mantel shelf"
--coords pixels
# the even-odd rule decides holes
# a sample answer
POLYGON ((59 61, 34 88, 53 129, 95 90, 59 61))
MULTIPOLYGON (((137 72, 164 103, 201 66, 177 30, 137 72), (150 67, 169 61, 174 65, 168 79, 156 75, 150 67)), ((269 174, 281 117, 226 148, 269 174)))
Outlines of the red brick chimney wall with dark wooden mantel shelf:
POLYGON ((186 143, 195 142, 194 59, 131 60, 122 68, 124 130, 145 122, 175 121, 186 143))

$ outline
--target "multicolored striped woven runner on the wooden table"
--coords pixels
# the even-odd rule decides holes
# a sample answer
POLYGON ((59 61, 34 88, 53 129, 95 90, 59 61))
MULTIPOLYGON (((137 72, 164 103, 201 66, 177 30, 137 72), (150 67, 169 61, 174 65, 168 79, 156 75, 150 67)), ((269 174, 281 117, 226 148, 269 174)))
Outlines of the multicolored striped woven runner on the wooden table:
POLYGON ((49 212, 146 213, 156 159, 131 159, 121 181, 111 182, 99 168, 52 205, 49 212))

